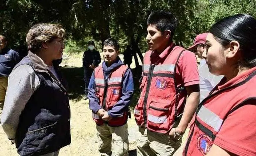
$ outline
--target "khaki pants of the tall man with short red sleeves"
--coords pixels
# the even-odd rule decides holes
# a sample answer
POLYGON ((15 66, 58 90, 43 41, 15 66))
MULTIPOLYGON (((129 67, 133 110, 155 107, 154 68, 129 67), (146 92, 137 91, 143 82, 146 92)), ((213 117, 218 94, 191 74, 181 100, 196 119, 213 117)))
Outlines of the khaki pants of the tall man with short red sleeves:
POLYGON ((158 134, 139 127, 137 156, 172 156, 181 144, 181 137, 174 141, 169 134, 158 134))

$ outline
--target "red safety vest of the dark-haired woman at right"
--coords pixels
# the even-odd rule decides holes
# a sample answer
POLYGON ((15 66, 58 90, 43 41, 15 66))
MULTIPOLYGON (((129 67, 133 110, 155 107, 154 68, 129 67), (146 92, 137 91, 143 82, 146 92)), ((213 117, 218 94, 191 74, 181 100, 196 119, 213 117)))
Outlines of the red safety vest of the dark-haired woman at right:
POLYGON ((256 71, 236 84, 210 92, 199 104, 183 156, 200 156, 209 152, 226 117, 247 100, 256 98, 256 92, 248 91, 256 84, 255 75, 256 71))

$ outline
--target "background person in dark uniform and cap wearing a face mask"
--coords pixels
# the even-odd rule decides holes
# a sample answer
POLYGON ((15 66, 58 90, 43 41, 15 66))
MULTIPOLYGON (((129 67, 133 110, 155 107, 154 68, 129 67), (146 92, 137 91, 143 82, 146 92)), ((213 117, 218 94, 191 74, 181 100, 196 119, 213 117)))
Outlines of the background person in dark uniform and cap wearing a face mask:
POLYGON ((89 41, 88 50, 83 55, 83 68, 84 68, 84 99, 87 99, 88 85, 94 68, 98 67, 101 62, 100 53, 96 51, 93 41, 89 41))

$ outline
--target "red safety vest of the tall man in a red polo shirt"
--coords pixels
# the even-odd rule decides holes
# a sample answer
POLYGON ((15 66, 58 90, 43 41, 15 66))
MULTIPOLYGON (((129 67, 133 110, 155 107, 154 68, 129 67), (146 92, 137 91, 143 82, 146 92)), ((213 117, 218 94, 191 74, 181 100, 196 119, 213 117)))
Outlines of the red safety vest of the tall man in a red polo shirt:
POLYGON ((172 46, 168 47, 168 51, 169 54, 156 64, 150 62, 152 51, 145 54, 140 85, 142 91, 134 109, 138 126, 146 126, 150 131, 163 134, 181 116, 183 108, 177 109, 177 106, 181 98, 186 96, 184 86, 177 87, 175 80, 178 60, 184 49, 172 46), (181 94, 183 96, 179 96, 181 94))

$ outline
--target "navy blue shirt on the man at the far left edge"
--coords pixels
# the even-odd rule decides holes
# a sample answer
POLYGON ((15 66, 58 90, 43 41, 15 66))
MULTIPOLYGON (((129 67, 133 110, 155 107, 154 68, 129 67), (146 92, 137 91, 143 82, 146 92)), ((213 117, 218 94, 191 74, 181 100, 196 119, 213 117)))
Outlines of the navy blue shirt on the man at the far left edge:
POLYGON ((19 62, 19 53, 7 47, 2 49, 0 53, 0 77, 9 76, 14 66, 19 62))

